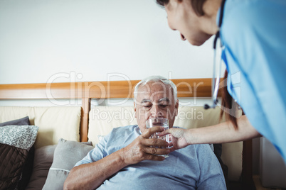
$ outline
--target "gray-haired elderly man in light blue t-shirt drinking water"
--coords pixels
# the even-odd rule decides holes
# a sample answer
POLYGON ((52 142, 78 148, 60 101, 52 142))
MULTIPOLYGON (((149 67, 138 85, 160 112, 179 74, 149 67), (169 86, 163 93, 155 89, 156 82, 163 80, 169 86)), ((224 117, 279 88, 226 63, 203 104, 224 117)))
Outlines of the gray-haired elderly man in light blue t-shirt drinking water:
POLYGON ((176 86, 164 77, 149 77, 134 89, 138 125, 115 128, 75 164, 64 189, 226 189, 221 166, 209 145, 170 152, 169 144, 149 139, 161 127, 146 128, 149 118, 178 113, 176 86), (163 147, 163 148, 156 148, 163 147), (159 155, 169 154, 169 157, 159 155))

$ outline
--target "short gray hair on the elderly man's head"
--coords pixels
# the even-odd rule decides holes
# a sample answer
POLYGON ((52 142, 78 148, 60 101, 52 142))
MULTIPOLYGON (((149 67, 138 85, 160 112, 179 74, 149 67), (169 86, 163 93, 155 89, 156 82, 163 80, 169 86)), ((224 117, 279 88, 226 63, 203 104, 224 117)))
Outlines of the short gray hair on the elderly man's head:
MULTIPOLYGON (((147 84, 149 82, 162 82, 165 85, 170 85, 172 92, 173 92, 174 101, 176 102, 176 99, 177 99, 176 84, 174 84, 174 82, 171 82, 169 79, 166 79, 165 77, 161 77, 161 76, 150 76, 150 77, 147 77, 147 78, 143 79, 142 81, 138 82, 135 86, 135 89, 134 89, 134 100, 136 100, 137 91, 138 91, 139 87, 144 86, 145 84, 147 84)), ((134 102, 136 102, 136 101, 134 101, 134 102)))

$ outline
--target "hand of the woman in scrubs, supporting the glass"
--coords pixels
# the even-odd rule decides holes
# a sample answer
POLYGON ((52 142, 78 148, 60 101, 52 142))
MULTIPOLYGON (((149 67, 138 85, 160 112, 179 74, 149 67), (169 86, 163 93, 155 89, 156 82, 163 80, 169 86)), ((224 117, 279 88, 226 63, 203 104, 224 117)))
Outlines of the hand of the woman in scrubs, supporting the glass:
POLYGON ((186 147, 187 145, 191 145, 190 143, 190 131, 183 128, 170 128, 168 130, 164 130, 161 133, 159 133, 160 136, 164 135, 171 135, 171 143, 170 146, 173 146, 170 148, 171 152, 174 150, 186 147))

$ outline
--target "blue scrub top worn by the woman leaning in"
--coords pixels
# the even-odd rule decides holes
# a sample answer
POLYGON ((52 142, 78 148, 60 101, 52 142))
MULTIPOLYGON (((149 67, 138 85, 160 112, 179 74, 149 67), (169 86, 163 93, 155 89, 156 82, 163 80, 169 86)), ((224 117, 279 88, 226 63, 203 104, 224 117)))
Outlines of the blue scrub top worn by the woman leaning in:
POLYGON ((285 19, 285 0, 227 0, 221 40, 228 92, 286 162, 285 19))

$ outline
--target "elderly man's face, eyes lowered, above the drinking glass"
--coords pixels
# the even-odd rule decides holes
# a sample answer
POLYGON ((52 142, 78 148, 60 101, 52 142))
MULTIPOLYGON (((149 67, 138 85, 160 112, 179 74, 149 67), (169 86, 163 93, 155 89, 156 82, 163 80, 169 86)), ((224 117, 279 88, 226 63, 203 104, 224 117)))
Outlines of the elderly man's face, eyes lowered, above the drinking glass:
POLYGON ((150 82, 139 86, 134 101, 135 118, 142 133, 146 130, 149 118, 168 118, 169 127, 173 127, 179 103, 178 100, 175 102, 170 85, 150 82))

